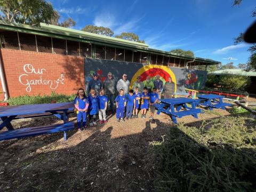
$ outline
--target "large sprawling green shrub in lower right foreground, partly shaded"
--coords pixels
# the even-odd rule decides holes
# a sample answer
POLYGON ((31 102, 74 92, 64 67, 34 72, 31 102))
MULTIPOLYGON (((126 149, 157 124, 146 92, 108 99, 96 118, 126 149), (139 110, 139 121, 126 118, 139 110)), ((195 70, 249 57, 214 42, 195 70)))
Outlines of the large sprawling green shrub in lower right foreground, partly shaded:
POLYGON ((201 126, 177 125, 152 142, 156 191, 253 191, 256 123, 226 116, 201 126))

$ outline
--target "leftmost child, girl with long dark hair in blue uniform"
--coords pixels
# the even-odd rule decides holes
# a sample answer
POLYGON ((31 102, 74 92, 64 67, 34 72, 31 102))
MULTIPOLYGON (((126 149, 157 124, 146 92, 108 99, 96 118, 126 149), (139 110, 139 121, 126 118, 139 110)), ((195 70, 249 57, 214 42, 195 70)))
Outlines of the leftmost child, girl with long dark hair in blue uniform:
POLYGON ((85 96, 85 92, 83 89, 79 89, 77 91, 76 98, 74 100, 75 108, 77 109, 77 128, 78 131, 82 131, 81 129, 81 121, 83 120, 83 127, 86 128, 86 112, 88 110, 89 101, 85 96))

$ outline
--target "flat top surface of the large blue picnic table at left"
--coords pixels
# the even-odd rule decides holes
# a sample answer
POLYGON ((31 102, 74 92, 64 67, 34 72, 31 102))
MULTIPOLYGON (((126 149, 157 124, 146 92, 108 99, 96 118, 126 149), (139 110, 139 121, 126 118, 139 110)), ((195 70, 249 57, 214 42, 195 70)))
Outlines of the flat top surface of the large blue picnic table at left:
POLYGON ((0 107, 0 117, 13 115, 41 114, 53 111, 74 110, 73 102, 45 103, 22 106, 0 107))

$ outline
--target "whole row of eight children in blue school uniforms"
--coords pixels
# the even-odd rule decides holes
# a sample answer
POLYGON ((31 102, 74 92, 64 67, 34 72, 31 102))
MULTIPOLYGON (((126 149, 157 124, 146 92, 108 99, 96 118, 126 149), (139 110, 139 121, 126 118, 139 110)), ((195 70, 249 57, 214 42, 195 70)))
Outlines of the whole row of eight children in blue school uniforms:
MULTIPOLYGON (((135 90, 129 91, 129 94, 124 94, 124 90, 119 90, 116 101, 116 118, 117 121, 124 121, 124 111, 126 109, 125 119, 138 118, 138 110, 141 109, 141 118, 146 118, 147 109, 150 108, 149 119, 154 120, 155 104, 158 101, 158 94, 154 87, 152 93, 148 93, 147 87, 144 87, 143 93, 135 90)), ((107 123, 106 110, 108 99, 104 94, 104 90, 100 90, 100 95, 96 95, 95 90, 91 89, 88 97, 83 89, 79 89, 74 100, 77 112, 77 127, 78 131, 82 131, 82 127, 86 128, 86 116, 89 115, 89 125, 95 126, 96 115, 99 114, 100 124, 107 123)))

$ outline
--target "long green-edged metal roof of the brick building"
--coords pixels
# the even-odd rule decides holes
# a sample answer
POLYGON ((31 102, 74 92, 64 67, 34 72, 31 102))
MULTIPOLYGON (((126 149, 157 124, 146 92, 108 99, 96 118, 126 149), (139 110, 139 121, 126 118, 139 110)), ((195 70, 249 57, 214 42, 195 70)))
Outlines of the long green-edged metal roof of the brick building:
MULTIPOLYGON (((194 59, 194 57, 190 57, 189 55, 180 55, 177 53, 170 53, 167 51, 150 49, 148 45, 145 43, 127 41, 125 39, 119 39, 115 37, 108 37, 105 35, 88 33, 82 30, 70 29, 70 28, 59 27, 54 25, 47 25, 45 23, 40 23, 39 27, 35 27, 35 26, 23 25, 19 23, 0 21, 0 29, 18 31, 21 33, 28 33, 28 34, 34 34, 34 35, 49 36, 54 38, 68 39, 71 41, 116 46, 116 47, 122 47, 123 49, 126 47, 127 49, 144 51, 144 52, 149 52, 153 54, 161 54, 165 56, 182 58, 186 60, 194 59)), ((207 63, 208 65, 217 65, 220 63, 219 61, 197 58, 197 57, 195 57, 195 61, 204 62, 204 63, 207 63)))

